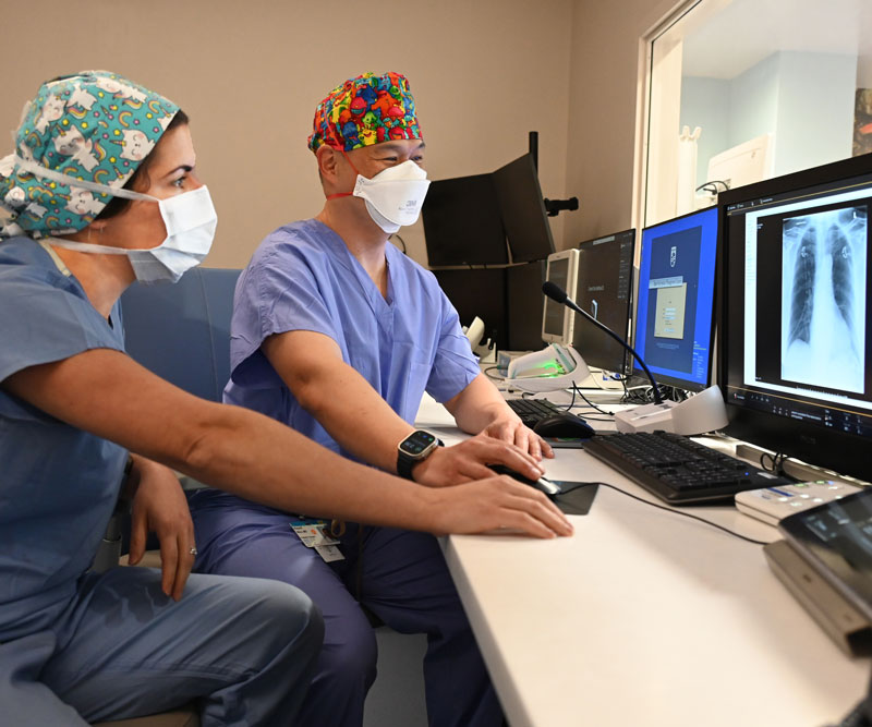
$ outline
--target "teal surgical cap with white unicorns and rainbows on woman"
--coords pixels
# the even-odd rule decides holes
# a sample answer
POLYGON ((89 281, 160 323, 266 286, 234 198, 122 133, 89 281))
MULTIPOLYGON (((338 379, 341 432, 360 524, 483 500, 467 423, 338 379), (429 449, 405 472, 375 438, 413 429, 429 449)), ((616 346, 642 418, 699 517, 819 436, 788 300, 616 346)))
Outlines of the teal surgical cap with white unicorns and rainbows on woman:
POLYGON ((25 108, 14 154, 0 159, 0 239, 76 232, 112 198, 20 169, 16 156, 122 187, 178 110, 172 101, 108 71, 44 83, 25 108))

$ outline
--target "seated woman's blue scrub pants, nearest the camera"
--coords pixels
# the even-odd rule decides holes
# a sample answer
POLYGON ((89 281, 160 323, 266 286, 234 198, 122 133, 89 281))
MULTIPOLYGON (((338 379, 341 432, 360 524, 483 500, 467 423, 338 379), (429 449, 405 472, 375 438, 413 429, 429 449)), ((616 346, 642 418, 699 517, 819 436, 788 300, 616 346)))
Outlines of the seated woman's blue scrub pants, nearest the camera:
POLYGON ((203 727, 291 725, 323 622, 283 583, 191 575, 179 603, 149 568, 85 574, 50 630, 0 644, 0 723, 66 727, 199 702, 203 727))

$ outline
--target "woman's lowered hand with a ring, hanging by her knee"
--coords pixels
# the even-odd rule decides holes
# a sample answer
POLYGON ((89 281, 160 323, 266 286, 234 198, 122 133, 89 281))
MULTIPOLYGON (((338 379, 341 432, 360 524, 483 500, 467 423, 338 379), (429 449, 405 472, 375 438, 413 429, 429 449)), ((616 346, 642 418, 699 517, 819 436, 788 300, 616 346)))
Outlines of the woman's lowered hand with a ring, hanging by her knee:
POLYGON ((129 561, 133 566, 142 560, 146 537, 155 533, 160 541, 161 590, 179 601, 196 555, 187 500, 172 470, 137 455, 131 457, 135 493, 129 561))

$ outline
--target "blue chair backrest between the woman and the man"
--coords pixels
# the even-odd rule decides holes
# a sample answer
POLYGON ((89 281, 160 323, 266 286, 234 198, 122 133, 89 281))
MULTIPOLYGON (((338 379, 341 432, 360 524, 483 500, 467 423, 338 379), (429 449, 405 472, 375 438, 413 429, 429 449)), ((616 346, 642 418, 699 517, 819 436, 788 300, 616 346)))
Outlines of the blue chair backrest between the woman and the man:
POLYGON ((128 353, 185 391, 221 401, 239 274, 197 267, 174 284, 131 286, 121 296, 128 353))

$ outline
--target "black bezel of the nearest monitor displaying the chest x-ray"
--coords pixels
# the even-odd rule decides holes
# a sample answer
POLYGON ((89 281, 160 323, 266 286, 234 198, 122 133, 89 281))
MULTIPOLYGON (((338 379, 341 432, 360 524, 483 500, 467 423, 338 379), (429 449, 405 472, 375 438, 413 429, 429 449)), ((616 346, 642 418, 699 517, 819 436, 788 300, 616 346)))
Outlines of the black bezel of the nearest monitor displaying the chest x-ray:
MULTIPOLYGON (((719 197, 718 216, 720 232, 720 289, 722 315, 718 325, 717 347, 719 355, 719 380, 726 400, 727 424, 730 436, 756 445, 773 452, 800 459, 809 464, 826 468, 841 474, 869 478, 869 438, 847 432, 835 432, 808 421, 800 421, 771 412, 742 407, 730 402, 729 319, 730 319, 730 240, 727 208, 730 205, 790 193, 797 190, 832 184, 840 180, 872 175, 872 154, 851 157, 813 169, 794 172, 754 184, 723 192, 719 197)), ((872 180, 871 180, 872 181, 872 180)))

